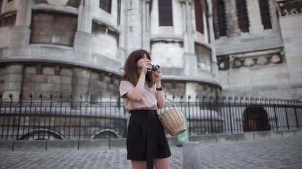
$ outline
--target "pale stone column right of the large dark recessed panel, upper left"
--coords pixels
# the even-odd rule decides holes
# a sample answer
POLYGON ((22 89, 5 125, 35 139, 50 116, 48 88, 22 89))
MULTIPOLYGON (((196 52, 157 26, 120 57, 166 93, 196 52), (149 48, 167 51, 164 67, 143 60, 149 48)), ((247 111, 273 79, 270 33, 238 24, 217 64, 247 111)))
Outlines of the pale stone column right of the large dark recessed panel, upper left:
POLYGON ((75 51, 90 56, 92 53, 92 8, 91 0, 81 2, 78 7, 77 31, 75 32, 75 51))

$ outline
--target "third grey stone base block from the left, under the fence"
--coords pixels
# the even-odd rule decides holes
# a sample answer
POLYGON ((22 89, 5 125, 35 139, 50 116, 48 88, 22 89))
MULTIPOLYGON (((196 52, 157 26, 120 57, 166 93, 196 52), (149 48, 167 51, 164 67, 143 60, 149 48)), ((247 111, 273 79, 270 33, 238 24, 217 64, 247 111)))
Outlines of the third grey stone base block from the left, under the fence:
POLYGON ((78 140, 49 140, 47 150, 72 149, 77 150, 78 140))

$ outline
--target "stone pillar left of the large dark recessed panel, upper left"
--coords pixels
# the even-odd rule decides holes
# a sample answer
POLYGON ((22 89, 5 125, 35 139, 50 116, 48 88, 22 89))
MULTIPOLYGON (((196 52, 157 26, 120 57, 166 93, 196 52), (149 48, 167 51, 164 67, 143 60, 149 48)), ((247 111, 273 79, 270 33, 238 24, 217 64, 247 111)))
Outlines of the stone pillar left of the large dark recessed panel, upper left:
POLYGON ((11 29, 10 47, 26 47, 30 40, 32 0, 19 0, 15 27, 11 29))

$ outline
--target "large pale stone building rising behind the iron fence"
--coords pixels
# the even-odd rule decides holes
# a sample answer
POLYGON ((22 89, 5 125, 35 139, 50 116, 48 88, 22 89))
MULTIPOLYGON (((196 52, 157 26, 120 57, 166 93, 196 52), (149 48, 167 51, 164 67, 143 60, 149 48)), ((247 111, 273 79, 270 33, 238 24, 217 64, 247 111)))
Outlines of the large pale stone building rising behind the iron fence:
POLYGON ((140 48, 175 101, 302 99, 301 10, 301 0, 0 0, 1 99, 119 104, 123 64, 140 48))

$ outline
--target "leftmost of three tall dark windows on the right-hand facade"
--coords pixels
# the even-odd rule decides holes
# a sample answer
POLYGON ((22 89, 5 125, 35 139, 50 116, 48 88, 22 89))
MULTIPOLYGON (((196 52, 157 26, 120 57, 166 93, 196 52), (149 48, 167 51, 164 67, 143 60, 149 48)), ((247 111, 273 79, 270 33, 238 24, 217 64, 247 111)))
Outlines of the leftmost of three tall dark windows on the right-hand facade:
POLYGON ((223 0, 219 0, 217 3, 217 20, 218 20, 218 35, 216 35, 216 38, 227 36, 227 19, 226 19, 225 2, 223 0))

